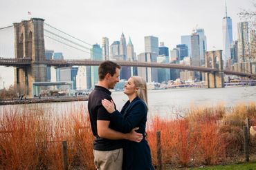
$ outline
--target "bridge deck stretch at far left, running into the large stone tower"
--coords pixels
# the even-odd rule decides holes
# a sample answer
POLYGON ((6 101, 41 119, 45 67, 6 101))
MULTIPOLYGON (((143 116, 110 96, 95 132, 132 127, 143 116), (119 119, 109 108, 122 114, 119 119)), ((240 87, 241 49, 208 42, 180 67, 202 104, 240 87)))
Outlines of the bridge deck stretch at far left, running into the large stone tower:
POLYGON ((6 66, 22 66, 22 65, 30 65, 32 59, 25 57, 25 58, 3 58, 0 57, 0 65, 6 66))

